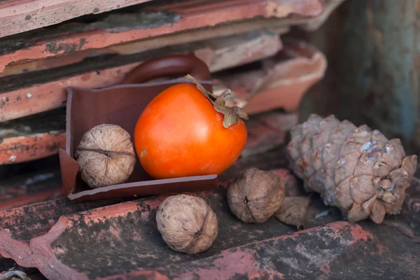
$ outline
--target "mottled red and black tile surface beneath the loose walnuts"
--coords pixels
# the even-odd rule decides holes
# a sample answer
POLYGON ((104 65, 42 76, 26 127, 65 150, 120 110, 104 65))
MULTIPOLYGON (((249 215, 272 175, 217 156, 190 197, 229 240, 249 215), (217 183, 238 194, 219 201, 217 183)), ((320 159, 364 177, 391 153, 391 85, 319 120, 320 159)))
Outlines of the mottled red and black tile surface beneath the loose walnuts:
MULTIPOLYGON (((49 279, 417 279, 420 245, 415 239, 386 224, 346 223, 316 195, 308 230, 302 232, 274 218, 250 225, 230 214, 225 186, 235 174, 251 166, 284 167, 283 155, 280 147, 241 158, 221 176, 220 190, 199 194, 216 211, 220 225, 214 245, 199 255, 175 253, 162 241, 154 214, 165 197, 120 203, 55 200, 2 211, 1 254, 19 265, 38 267, 49 279), (320 225, 325 226, 316 228, 320 225)), ((286 169, 273 172, 290 179, 286 169)), ((301 195, 300 182, 294 183, 288 195, 301 195)), ((402 214, 386 220, 407 225, 418 237, 419 214, 416 179, 402 214)))

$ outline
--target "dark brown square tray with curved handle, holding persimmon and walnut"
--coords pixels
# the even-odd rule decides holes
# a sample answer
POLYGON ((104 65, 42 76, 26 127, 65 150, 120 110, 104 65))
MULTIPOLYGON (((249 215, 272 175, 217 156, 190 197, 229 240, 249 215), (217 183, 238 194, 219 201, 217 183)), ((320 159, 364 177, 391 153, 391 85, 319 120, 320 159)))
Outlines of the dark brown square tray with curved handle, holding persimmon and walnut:
POLYGON ((70 200, 145 197, 218 188, 216 175, 154 180, 137 160, 134 172, 126 183, 91 189, 80 179, 79 164, 73 158, 74 148, 83 134, 95 125, 120 125, 133 137, 137 119, 147 104, 167 87, 190 83, 190 80, 183 78, 187 73, 212 91, 207 65, 193 55, 172 55, 144 62, 128 73, 118 85, 111 87, 67 89, 66 151, 59 151, 59 162, 63 185, 69 192, 70 200))

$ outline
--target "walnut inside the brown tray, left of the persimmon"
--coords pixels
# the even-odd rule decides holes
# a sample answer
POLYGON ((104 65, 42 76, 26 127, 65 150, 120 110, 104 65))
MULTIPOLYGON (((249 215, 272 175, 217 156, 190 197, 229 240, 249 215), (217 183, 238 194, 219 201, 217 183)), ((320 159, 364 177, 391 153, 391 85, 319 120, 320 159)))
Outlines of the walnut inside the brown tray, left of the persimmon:
POLYGON ((97 125, 86 132, 76 148, 80 174, 90 188, 124 183, 136 164, 130 134, 118 125, 97 125))

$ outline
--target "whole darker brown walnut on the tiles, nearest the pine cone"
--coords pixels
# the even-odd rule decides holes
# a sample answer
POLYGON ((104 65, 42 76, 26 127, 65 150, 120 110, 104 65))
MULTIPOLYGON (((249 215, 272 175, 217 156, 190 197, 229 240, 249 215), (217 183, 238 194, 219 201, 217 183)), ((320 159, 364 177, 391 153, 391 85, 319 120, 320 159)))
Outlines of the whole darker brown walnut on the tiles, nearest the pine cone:
POLYGON ((285 187, 272 172, 247 169, 228 187, 230 211, 244 223, 264 223, 281 207, 285 187))

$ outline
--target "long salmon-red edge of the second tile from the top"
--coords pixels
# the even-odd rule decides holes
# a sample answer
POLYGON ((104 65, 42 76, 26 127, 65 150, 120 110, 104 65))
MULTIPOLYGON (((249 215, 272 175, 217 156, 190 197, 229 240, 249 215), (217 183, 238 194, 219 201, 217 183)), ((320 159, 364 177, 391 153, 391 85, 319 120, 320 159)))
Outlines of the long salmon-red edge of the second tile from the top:
MULTIPOLYGON (((57 36, 54 41, 47 38, 32 39, 34 43, 26 48, 19 48, 13 52, 8 52, 0 56, 0 71, 12 62, 20 59, 45 59, 71 52, 77 46, 77 50, 106 48, 110 45, 128 43, 149 37, 171 34, 189 29, 202 27, 212 27, 225 22, 238 20, 250 20, 257 17, 262 18, 285 18, 290 14, 304 16, 315 16, 321 14, 323 5, 320 0, 302 1, 267 1, 267 0, 230 0, 214 2, 209 0, 195 1, 194 6, 190 2, 177 1, 166 6, 149 7, 149 10, 160 13, 172 13, 172 18, 179 20, 169 20, 153 26, 154 22, 148 22, 151 28, 129 29, 123 26, 108 29, 90 30, 76 34, 64 32, 62 36, 57 36), (117 30, 117 31, 116 31, 117 30), (84 39, 85 43, 80 44, 84 39), (58 48, 57 51, 48 52, 48 45, 70 45, 71 48, 58 48), (74 47, 73 47, 74 46, 74 47)), ((150 13, 150 12, 149 12, 150 13)), ((144 22, 139 22, 139 26, 144 22)))

